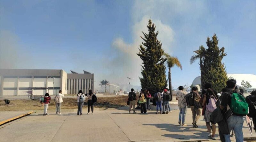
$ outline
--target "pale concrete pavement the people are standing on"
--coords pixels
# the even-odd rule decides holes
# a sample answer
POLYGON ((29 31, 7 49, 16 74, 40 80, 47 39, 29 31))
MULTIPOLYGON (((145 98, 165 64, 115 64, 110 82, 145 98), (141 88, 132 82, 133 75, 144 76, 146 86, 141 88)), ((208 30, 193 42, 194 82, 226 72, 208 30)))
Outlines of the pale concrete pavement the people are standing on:
MULTIPOLYGON (((11 112, 11 111, 10 111, 11 112)), ((83 111, 86 113, 87 111, 83 111)), ((187 127, 178 125, 179 111, 170 114, 128 114, 127 110, 94 110, 94 115, 77 116, 76 111, 62 112, 62 115, 41 112, 23 117, 0 126, 0 141, 46 141, 46 142, 124 142, 124 141, 198 141, 210 140, 206 136, 205 122, 193 128, 191 111, 188 109, 187 127)), ((218 130, 217 130, 218 131, 218 130)), ((244 123, 244 137, 252 137, 244 123)), ((255 133, 253 133, 255 137, 255 133)), ((218 132, 217 136, 218 138, 218 132)), ((232 138, 232 140, 235 140, 232 138)), ((218 140, 217 140, 218 141, 218 140)))

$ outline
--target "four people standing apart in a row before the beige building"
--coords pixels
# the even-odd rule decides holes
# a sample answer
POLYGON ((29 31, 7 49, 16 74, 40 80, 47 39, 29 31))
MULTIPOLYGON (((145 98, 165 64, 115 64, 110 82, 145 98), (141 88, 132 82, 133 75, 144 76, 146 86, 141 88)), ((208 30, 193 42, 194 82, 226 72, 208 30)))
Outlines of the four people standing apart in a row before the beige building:
MULTIPOLYGON (((77 94, 77 115, 82 115, 82 111, 83 111, 83 106, 84 106, 84 101, 85 98, 87 96, 87 105, 88 105, 88 112, 87 114, 90 113, 90 109, 92 110, 92 114, 93 114, 93 103, 95 100, 95 94, 92 93, 92 90, 89 90, 89 93, 84 94, 82 90, 78 91, 77 94)), ((59 93, 55 96, 54 101, 56 102, 56 115, 61 115, 60 111, 61 111, 61 103, 63 102, 63 98, 64 95, 62 94, 62 91, 60 90, 59 93)), ((45 93, 44 98, 41 100, 41 103, 44 105, 44 116, 48 116, 49 114, 47 114, 47 109, 49 106, 51 100, 51 96, 49 93, 45 93)), ((96 97, 97 100, 97 97, 96 97)))

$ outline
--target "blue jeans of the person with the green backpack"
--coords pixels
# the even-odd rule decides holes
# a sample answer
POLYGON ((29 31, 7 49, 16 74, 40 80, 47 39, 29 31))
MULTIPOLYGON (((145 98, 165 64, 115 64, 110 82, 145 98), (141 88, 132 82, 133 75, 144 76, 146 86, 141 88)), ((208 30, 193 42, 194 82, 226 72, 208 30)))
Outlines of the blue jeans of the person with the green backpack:
POLYGON ((235 132, 235 136, 236 136, 236 142, 243 142, 244 141, 244 135, 243 135, 243 130, 242 130, 243 124, 244 124, 243 116, 232 115, 227 120, 227 123, 228 123, 229 133, 224 134, 225 141, 231 142, 230 131, 233 129, 235 132))

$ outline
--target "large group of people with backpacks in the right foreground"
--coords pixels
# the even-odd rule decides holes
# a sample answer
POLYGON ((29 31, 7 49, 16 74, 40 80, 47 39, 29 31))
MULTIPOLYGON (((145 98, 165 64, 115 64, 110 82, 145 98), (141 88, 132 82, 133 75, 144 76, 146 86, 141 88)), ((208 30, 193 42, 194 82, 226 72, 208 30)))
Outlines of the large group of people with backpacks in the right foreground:
MULTIPOLYGON (((183 87, 179 87, 176 93, 176 100, 180 109, 179 124, 185 124, 187 106, 192 111, 193 127, 197 128, 197 121, 202 115, 209 132, 208 137, 215 138, 216 123, 219 125, 219 135, 222 142, 231 142, 230 137, 236 137, 236 142, 243 142, 243 117, 248 115, 252 118, 254 126, 256 122, 256 91, 252 91, 251 95, 244 97, 243 90, 239 91, 236 86, 235 79, 229 79, 226 87, 222 89, 221 96, 212 88, 210 83, 204 84, 205 90, 201 95, 198 93, 197 87, 192 87, 191 92, 183 91, 183 87), (238 100, 238 101, 237 101, 238 100), (249 106, 249 107, 248 107, 249 106), (249 108, 249 113, 248 113, 249 108), (230 132, 232 134, 230 135, 230 132)), ((254 127, 254 130, 256 128, 254 127)), ((256 131, 256 130, 255 130, 256 131)))

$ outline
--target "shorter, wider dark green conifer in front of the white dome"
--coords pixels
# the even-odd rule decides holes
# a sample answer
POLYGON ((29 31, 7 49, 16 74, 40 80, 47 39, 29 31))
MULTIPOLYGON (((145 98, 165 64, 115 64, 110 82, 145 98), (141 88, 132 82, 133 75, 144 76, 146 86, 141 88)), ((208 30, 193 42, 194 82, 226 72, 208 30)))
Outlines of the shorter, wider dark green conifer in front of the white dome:
POLYGON ((207 38, 206 44, 208 49, 206 49, 203 58, 204 68, 201 78, 205 83, 211 83, 212 87, 219 93, 226 86, 228 77, 225 66, 221 62, 227 54, 224 53, 224 47, 219 49, 218 42, 216 34, 212 36, 212 40, 210 40, 210 37, 207 38))

